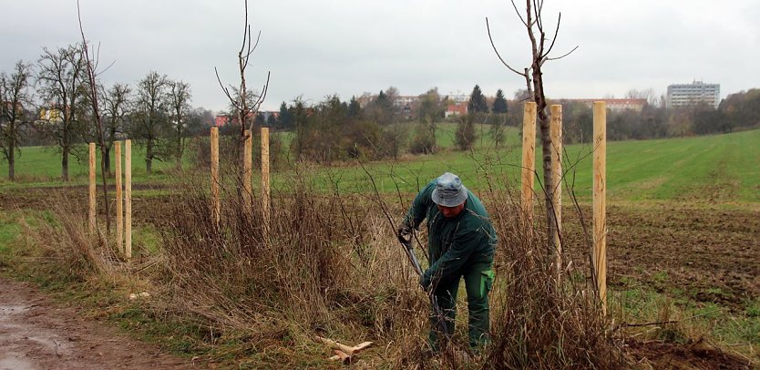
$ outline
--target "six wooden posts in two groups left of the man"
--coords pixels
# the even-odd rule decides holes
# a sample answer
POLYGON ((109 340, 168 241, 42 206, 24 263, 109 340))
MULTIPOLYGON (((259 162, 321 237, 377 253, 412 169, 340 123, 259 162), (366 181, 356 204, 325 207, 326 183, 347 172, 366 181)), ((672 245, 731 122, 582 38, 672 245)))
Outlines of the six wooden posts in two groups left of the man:
MULTIPOLYGON (((252 148, 251 131, 245 131, 246 139, 243 150, 243 200, 252 204, 252 148)), ((117 250, 129 261, 132 258, 132 142, 124 141, 124 184, 121 173, 121 142, 114 143, 114 176, 116 178, 116 238, 117 250), (122 190, 123 194, 122 194, 122 190), (123 204, 123 208, 122 208, 123 204)), ((262 128, 262 214, 265 230, 268 231, 270 222, 270 180, 269 180, 269 128, 262 128)), ((95 143, 89 144, 89 212, 88 230, 93 234, 96 230, 96 154, 95 143)), ((211 212, 213 220, 219 226, 221 218, 221 201, 219 195, 219 128, 211 128, 211 212)))

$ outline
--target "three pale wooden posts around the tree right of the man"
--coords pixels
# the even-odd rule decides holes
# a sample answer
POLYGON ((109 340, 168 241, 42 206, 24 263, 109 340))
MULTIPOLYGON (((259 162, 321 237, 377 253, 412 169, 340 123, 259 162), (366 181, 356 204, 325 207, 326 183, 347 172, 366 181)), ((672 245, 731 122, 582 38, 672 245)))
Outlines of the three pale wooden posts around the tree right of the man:
MULTIPOLYGON (((551 140, 551 177, 547 188, 552 191, 549 210, 554 212, 555 231, 550 235, 557 253, 558 278, 562 271, 562 106, 549 107, 549 138, 551 140)), ((522 126, 522 211, 532 220, 534 179, 536 177, 536 103, 525 103, 522 126)), ((602 313, 607 313, 607 106, 603 101, 593 104, 593 251, 591 252, 597 292, 602 313)), ((532 224, 532 222, 531 222, 532 224)))

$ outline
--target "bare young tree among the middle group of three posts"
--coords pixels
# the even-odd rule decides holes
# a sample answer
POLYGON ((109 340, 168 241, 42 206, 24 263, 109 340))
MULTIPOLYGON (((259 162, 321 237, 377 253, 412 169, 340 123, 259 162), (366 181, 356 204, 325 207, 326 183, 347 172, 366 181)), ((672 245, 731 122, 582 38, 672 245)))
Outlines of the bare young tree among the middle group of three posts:
MULTIPOLYGON (((248 0, 244 0, 243 2, 245 3, 245 26, 243 26, 241 49, 238 52, 238 67, 241 77, 240 87, 225 87, 221 82, 221 77, 219 77, 219 70, 214 67, 219 85, 221 86, 221 89, 224 91, 224 94, 227 96, 227 98, 230 99, 231 106, 234 110, 234 116, 238 118, 241 123, 241 135, 239 143, 241 154, 243 153, 242 146, 245 143, 245 139, 247 139, 245 130, 251 129, 252 135, 255 135, 253 131, 253 117, 262 106, 264 98, 266 98, 266 91, 269 87, 270 75, 269 72, 267 72, 266 83, 264 83, 264 86, 262 87, 262 92, 260 94, 255 94, 254 97, 249 97, 248 95, 250 94, 250 90, 246 87, 245 69, 248 67, 248 63, 251 60, 253 51, 256 50, 256 46, 259 46, 259 39, 262 36, 262 32, 259 31, 258 36, 256 36, 256 42, 253 43, 251 36, 251 24, 248 23, 248 0)), ((242 162, 243 161, 241 160, 241 169, 242 162)))

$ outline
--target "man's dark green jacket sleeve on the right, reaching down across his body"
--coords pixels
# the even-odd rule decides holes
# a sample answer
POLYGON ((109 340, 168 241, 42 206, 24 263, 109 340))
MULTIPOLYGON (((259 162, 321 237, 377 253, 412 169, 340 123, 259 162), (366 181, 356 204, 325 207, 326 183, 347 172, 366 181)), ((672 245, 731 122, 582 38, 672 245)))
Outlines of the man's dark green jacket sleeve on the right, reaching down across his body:
POLYGON ((454 275, 467 262, 470 254, 483 242, 480 231, 456 233, 447 252, 433 263, 422 276, 422 284, 427 286, 434 277, 446 279, 454 275))

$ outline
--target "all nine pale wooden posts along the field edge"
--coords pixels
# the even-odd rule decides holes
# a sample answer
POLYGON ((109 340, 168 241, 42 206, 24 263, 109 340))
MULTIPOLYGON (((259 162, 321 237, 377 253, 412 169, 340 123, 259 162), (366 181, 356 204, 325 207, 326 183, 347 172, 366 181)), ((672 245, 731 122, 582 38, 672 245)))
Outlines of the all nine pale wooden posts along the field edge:
MULTIPOLYGON (((548 205, 554 211, 556 232, 551 235, 557 252, 558 273, 562 269, 562 245, 560 231, 562 225, 562 106, 550 107, 549 134, 551 139, 551 180, 547 184, 552 189, 553 198, 548 205)), ((522 136, 522 190, 521 201, 523 213, 532 220, 534 179, 536 176, 536 103, 525 103, 523 110, 522 136)), ((593 106, 593 252, 592 263, 597 291, 601 299, 602 311, 607 310, 607 243, 606 243, 606 156, 607 156, 607 108, 604 102, 594 102, 593 106)), ((252 204, 252 135, 246 131, 243 149, 243 201, 252 204)), ((121 183, 121 143, 114 143, 116 157, 116 198, 117 198, 117 248, 129 260, 132 256, 132 155, 131 140, 124 143, 124 198, 122 200, 121 183), (124 210, 122 210, 122 201, 124 210), (124 220, 122 220, 122 214, 124 220)), ((262 128, 262 217, 265 231, 270 224, 270 153, 269 128, 262 128)), ((95 144, 89 145, 89 230, 95 231, 95 144)), ((219 225, 221 218, 220 174, 219 174, 219 128, 211 128, 211 212, 213 220, 219 225)))

